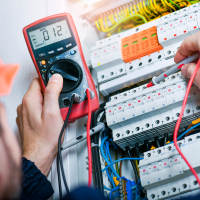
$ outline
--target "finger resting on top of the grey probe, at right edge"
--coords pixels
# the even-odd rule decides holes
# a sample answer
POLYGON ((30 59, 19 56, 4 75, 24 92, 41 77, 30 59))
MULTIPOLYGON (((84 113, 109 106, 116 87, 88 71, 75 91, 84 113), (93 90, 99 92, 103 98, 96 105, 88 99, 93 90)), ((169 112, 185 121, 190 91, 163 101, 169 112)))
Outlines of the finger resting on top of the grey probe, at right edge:
POLYGON ((174 57, 175 63, 179 63, 196 51, 200 51, 200 32, 187 37, 183 41, 174 57))

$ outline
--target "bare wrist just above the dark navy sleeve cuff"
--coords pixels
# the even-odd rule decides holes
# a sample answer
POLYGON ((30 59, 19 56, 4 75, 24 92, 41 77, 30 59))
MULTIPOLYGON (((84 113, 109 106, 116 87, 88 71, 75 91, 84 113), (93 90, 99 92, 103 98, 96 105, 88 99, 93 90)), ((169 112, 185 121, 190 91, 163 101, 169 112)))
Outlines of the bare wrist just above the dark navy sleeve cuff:
POLYGON ((51 165, 54 161, 55 154, 56 153, 53 149, 37 148, 33 151, 23 151, 22 156, 30 160, 31 162, 34 162, 34 164, 41 171, 41 173, 47 176, 51 169, 51 165))

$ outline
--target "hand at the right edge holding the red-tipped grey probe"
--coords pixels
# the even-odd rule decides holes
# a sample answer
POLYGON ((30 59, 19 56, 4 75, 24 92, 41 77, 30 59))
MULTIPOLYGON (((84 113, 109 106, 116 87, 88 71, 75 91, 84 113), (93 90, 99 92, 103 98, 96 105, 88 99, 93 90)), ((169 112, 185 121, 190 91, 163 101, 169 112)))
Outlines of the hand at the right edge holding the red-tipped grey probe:
MULTIPOLYGON (((183 41, 174 57, 174 61, 179 63, 195 52, 200 52, 200 32, 187 37, 183 41)), ((190 78, 195 67, 196 63, 186 64, 182 67, 181 72, 184 76, 190 78)), ((197 71, 196 77, 194 79, 194 84, 200 88, 200 69, 197 71)))

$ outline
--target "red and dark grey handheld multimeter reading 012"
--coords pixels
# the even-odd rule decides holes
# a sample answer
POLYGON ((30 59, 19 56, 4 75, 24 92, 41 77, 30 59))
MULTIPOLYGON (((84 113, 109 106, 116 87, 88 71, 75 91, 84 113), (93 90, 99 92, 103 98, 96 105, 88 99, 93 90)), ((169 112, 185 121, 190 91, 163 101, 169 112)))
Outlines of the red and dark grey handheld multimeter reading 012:
POLYGON ((73 93, 78 94, 79 103, 74 103, 69 121, 88 114, 86 89, 93 91, 92 112, 99 108, 96 88, 86 65, 81 43, 74 21, 69 13, 40 19, 23 29, 23 34, 40 78, 42 91, 55 73, 63 77, 63 89, 59 106, 63 119, 69 110, 73 93))

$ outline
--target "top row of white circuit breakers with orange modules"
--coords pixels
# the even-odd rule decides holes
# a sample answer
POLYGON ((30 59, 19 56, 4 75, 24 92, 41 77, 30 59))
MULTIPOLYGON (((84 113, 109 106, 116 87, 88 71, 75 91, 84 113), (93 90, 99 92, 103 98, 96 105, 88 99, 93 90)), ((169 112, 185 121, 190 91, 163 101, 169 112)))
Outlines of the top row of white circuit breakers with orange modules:
POLYGON ((91 48, 99 90, 107 96, 174 65, 181 42, 200 29, 200 4, 99 40, 91 48), (163 62, 164 60, 164 62, 163 62))

